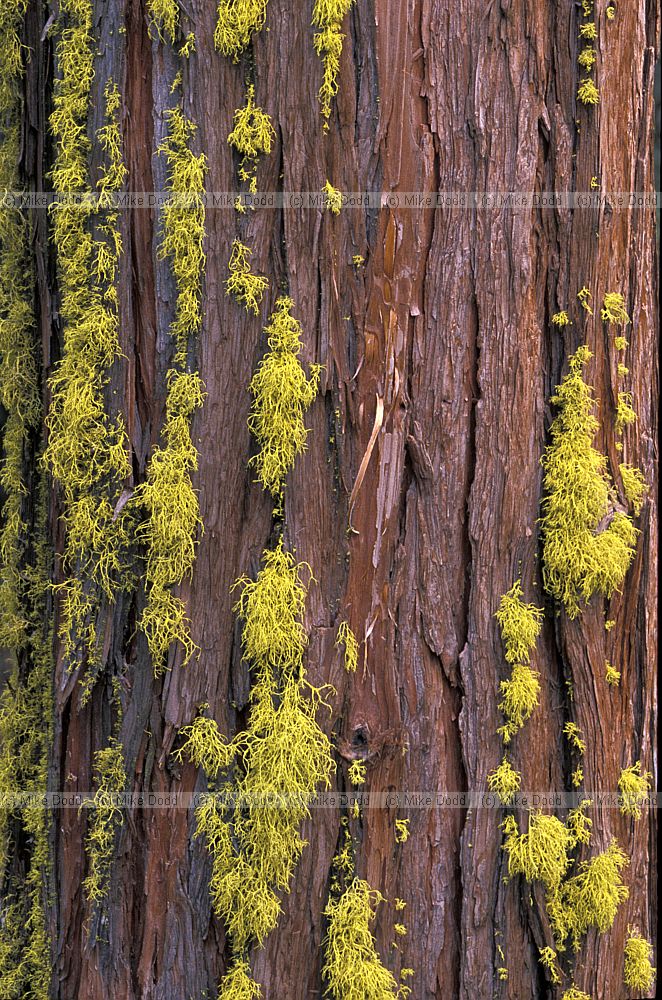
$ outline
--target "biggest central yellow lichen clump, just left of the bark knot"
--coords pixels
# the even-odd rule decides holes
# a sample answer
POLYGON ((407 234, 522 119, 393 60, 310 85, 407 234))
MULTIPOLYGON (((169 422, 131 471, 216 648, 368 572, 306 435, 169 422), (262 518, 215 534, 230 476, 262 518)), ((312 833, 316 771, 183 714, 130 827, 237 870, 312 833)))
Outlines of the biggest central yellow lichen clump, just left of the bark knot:
MULTIPOLYGON (((308 684, 301 623, 309 568, 277 548, 264 553, 255 581, 241 578, 235 612, 255 682, 248 728, 226 743, 209 719, 198 718, 179 751, 210 779, 234 760, 232 806, 209 796, 196 810, 197 835, 212 856, 210 892, 237 953, 261 943, 276 926, 305 841, 300 826, 319 785, 328 787, 331 744, 316 716, 324 692, 308 684)), ((229 775, 225 775, 229 781, 229 775)))

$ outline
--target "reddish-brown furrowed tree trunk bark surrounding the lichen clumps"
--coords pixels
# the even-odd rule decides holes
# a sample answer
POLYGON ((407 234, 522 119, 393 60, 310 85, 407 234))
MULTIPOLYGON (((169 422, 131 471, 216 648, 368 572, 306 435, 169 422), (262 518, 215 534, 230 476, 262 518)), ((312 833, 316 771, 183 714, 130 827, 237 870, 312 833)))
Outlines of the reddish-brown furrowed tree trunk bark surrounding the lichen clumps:
MULTIPOLYGON (((620 210, 609 192, 654 188, 656 0, 615 5, 611 14, 592 0, 221 0, 218 9, 208 0, 66 0, 54 17, 36 0, 5 3, 11 23, 18 11, 31 52, 24 76, 12 84, 22 110, 12 162, 18 160, 28 190, 47 188, 58 155, 49 119, 60 72, 59 18, 64 11, 75 20, 89 8, 94 73, 80 136, 83 147, 89 142, 85 186, 103 171, 97 136, 107 125, 104 92, 112 80, 122 101, 116 120, 130 191, 166 190, 168 164, 155 154, 167 141, 168 110, 177 105, 197 125, 190 152, 204 154, 206 190, 239 195, 241 157, 228 136, 251 88, 274 130, 270 150, 251 159, 244 178, 254 178, 257 191, 326 191, 327 199, 329 191, 335 197, 375 190, 603 195, 595 207, 575 209, 488 200, 479 208, 413 210, 394 201, 336 212, 337 199, 330 211, 207 207, 202 328, 179 359, 182 371, 199 372, 207 393, 204 406, 188 414, 204 533, 192 577, 184 574, 175 587, 199 655, 185 663, 185 649, 173 643, 168 669, 155 676, 138 627, 147 599, 139 562, 126 590, 102 595, 99 662, 88 688, 67 669, 56 619, 48 783, 98 791, 95 760, 116 741, 131 791, 206 790, 203 770, 186 755, 179 759, 180 730, 201 705, 228 741, 246 730, 255 678, 242 661, 230 589, 240 577, 256 579, 282 519, 284 549, 317 578, 301 624, 310 684, 335 688, 330 716, 317 718, 333 745, 334 789, 363 781, 369 792, 482 792, 504 759, 509 768, 498 771, 498 782, 506 791, 514 775, 523 790, 540 792, 572 790, 578 782, 591 807, 571 819, 565 810, 545 810, 562 821, 549 828, 565 841, 559 828, 567 821, 576 842, 576 860, 559 884, 579 901, 579 923, 586 922, 582 878, 589 869, 582 863, 602 856, 612 883, 622 877, 629 890, 623 899, 617 886, 611 929, 582 935, 576 956, 571 946, 555 948, 546 886, 519 874, 504 879, 509 865, 532 872, 518 860, 528 816, 517 803, 507 851, 504 809, 391 805, 358 816, 312 809, 301 828, 308 846, 282 895, 276 928, 233 966, 227 927, 212 912, 211 859, 204 839, 194 836, 193 809, 125 809, 117 825, 113 814, 111 886, 100 903, 84 892, 94 875, 85 855, 94 812, 67 809, 54 813, 48 834, 39 820, 39 850, 30 823, 10 818, 13 855, 2 886, 11 927, 20 928, 20 915, 39 900, 45 906, 50 996, 201 1000, 215 996, 234 968, 238 985, 230 985, 254 980, 267 1000, 321 997, 325 962, 328 981, 336 989, 347 984, 324 942, 329 929, 332 941, 341 939, 339 915, 350 904, 361 932, 375 934, 383 988, 405 982, 413 1000, 561 1000, 573 983, 581 991, 575 996, 592 1000, 653 995, 642 962, 646 942, 655 946, 656 816, 644 808, 637 819, 636 812, 640 782, 654 769, 657 721, 655 217, 648 209, 620 210), (181 87, 173 91, 177 79, 181 87), (237 245, 250 251, 253 276, 267 281, 250 309, 226 294, 237 245), (306 447, 285 477, 274 519, 272 497, 255 482, 249 386, 269 351, 265 327, 285 294, 301 325, 303 370, 323 369, 305 414, 306 447), (616 491, 597 531, 606 533, 627 512, 639 534, 620 591, 580 601, 580 613, 570 617, 543 587, 540 460, 558 415, 551 397, 584 346, 592 354, 584 374, 594 388, 592 446, 605 456, 616 491), (516 581, 544 618, 530 653, 538 704, 504 758, 499 706, 510 696, 515 705, 512 683, 521 664, 504 655, 495 613, 516 581), (356 669, 346 669, 343 625, 356 638, 356 669), (624 812, 597 795, 616 793, 619 782, 624 812), (41 885, 47 837, 48 891, 35 893, 29 879, 38 872, 41 885), (340 906, 334 880, 347 844, 352 863, 343 877, 353 895, 340 906), (375 923, 378 895, 371 893, 385 897, 375 923), (625 974, 638 985, 626 986, 625 974)), ((5 126, 0 122, 0 142, 5 126)), ((66 355, 66 288, 47 215, 31 211, 28 221, 46 412, 66 355)), ((169 419, 170 331, 181 289, 171 261, 159 256, 160 224, 160 214, 148 209, 120 212, 116 220, 124 249, 115 274, 121 353, 105 366, 102 396, 106 414, 121 415, 131 468, 113 494, 111 524, 134 508, 169 419)), ((21 297, 30 299, 26 289, 19 288, 21 297)), ((0 296, 0 307, 4 302, 0 296)), ((8 361, 5 350, 3 368, 8 361)), ((43 471, 36 438, 31 430, 22 469, 16 465, 28 484, 20 558, 57 584, 67 552, 66 498, 51 483, 47 515, 33 500, 43 471), (52 565, 44 542, 54 550, 52 565)), ((0 500, 3 511, 12 509, 0 500)), ((139 559, 140 545, 133 549, 139 559)), ((14 577, 5 574, 10 584, 14 577)), ((41 609, 34 588, 17 600, 19 611, 21 601, 33 602, 25 619, 33 622, 35 607, 41 609)), ((50 601, 48 616, 39 611, 49 628, 50 601)), ((15 676, 31 692, 49 669, 47 645, 36 630, 12 654, 15 676)), ((5 735, 10 730, 5 713, 5 764, 7 746, 16 753, 24 746, 22 737, 5 735)), ((32 752, 17 774, 43 782, 41 749, 35 744, 32 752)), ((11 777, 11 768, 3 773, 11 777)), ((563 868, 568 852, 558 857, 563 868)), ((558 865, 546 870, 554 882, 558 865)), ((0 957, 11 973, 20 949, 0 957)), ((23 979, 37 966, 33 954, 23 979)), ((35 988, 43 993, 39 968, 35 988)), ((4 973, 7 995, 20 996, 20 977, 4 973)))

